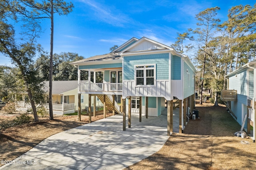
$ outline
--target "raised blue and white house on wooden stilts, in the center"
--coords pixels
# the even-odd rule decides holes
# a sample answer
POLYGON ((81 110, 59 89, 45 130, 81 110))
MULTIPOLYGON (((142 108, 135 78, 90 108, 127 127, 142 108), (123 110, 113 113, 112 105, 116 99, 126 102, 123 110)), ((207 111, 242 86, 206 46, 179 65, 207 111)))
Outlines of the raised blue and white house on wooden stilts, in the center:
POLYGON ((139 113, 140 117, 142 113, 146 117, 159 116, 166 109, 167 100, 168 131, 172 132, 173 100, 178 99, 180 106, 184 106, 180 107, 181 133, 194 109, 196 70, 190 59, 146 37, 132 38, 111 53, 70 64, 78 66, 78 93, 98 96, 113 114, 123 112, 124 130, 126 111, 128 127, 131 127, 131 112, 139 113), (91 82, 90 75, 88 82, 81 82, 82 70, 89 74, 103 72, 104 82, 91 82), (113 100, 115 95, 122 97, 121 110, 113 100))

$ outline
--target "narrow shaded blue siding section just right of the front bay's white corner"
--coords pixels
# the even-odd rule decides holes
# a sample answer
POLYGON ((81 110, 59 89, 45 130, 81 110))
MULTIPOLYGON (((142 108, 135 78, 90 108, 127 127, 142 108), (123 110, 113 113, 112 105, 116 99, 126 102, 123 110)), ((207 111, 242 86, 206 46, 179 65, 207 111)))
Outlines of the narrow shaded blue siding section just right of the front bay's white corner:
POLYGON ((180 80, 181 79, 181 58, 172 55, 171 57, 171 79, 172 80, 180 80))

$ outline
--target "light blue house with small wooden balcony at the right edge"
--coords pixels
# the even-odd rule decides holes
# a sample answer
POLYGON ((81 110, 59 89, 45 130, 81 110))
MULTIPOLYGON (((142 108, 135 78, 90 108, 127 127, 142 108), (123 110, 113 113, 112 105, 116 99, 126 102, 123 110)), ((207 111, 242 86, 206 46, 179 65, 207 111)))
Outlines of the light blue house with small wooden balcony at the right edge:
POLYGON ((244 64, 225 77, 228 79, 228 90, 222 91, 221 99, 226 102, 242 130, 244 129, 255 142, 256 60, 244 64))

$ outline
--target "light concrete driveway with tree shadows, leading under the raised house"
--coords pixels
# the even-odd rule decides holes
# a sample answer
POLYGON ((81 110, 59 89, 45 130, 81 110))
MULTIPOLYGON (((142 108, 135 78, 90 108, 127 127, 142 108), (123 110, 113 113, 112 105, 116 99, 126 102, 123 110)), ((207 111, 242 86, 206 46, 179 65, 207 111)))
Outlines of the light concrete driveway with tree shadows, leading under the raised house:
POLYGON ((168 139, 166 115, 143 116, 142 122, 132 115, 126 131, 122 119, 118 114, 52 135, 0 169, 118 170, 157 152, 168 139))

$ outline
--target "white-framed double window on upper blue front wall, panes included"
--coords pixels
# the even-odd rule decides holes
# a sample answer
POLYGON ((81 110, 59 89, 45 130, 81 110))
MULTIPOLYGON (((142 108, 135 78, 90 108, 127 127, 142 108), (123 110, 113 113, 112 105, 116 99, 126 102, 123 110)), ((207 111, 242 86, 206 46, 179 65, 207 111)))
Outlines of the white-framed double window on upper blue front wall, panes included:
POLYGON ((155 84, 155 65, 135 66, 136 85, 154 85, 155 84))

